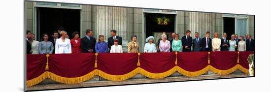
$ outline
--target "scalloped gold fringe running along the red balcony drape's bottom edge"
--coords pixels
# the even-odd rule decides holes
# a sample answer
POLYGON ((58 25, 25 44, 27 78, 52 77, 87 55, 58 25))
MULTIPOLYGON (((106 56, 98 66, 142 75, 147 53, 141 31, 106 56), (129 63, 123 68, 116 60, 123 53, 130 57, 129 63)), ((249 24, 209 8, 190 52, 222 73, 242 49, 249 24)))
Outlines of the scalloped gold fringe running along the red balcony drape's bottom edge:
POLYGON ((142 75, 144 75, 148 78, 161 79, 161 78, 168 77, 169 75, 173 74, 176 71, 178 71, 179 73, 181 73, 185 76, 188 76, 188 77, 197 77, 197 76, 204 74, 208 70, 210 70, 214 73, 220 74, 220 75, 227 75, 227 74, 230 74, 230 73, 236 71, 237 69, 248 74, 248 69, 242 67, 239 64, 237 64, 234 67, 227 69, 227 70, 219 70, 219 69, 214 68, 211 65, 207 65, 205 68, 203 68, 199 71, 194 71, 194 72, 186 71, 179 66, 174 66, 173 68, 171 68, 168 71, 163 72, 163 73, 152 73, 152 72, 144 70, 141 67, 137 67, 133 71, 131 71, 127 74, 123 74, 123 75, 111 75, 111 74, 105 73, 99 69, 95 69, 86 75, 83 75, 80 77, 74 77, 74 78, 61 77, 61 76, 56 75, 52 72, 45 71, 40 76, 38 76, 34 79, 31 79, 31 80, 28 80, 27 87, 34 86, 34 85, 42 82, 46 78, 50 78, 56 82, 64 83, 64 84, 76 84, 76 83, 81 83, 81 82, 87 81, 87 80, 93 78, 95 75, 101 76, 102 78, 110 80, 110 81, 123 81, 123 80, 127 80, 127 79, 135 76, 138 73, 141 73, 142 75))

